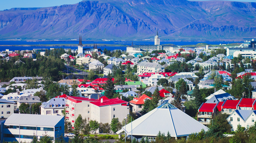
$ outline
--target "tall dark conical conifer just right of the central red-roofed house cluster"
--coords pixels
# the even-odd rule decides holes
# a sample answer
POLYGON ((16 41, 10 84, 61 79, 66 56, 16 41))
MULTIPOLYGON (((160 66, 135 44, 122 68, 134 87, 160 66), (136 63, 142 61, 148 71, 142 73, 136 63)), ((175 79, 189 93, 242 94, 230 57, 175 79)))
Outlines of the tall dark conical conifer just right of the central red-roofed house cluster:
POLYGON ((105 89, 105 96, 107 98, 113 98, 114 94, 116 93, 116 89, 114 88, 114 82, 112 81, 112 77, 110 76, 110 73, 108 74, 108 79, 106 80, 106 84, 104 85, 105 89))

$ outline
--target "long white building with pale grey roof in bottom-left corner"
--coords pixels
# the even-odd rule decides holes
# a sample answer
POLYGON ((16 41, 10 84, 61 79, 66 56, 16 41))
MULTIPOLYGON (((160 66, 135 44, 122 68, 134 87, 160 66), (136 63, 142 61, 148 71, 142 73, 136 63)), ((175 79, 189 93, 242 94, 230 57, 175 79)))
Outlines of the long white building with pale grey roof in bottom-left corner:
POLYGON ((45 132, 53 140, 64 137, 64 116, 12 114, 4 122, 3 140, 31 142, 33 135, 40 139, 45 132))

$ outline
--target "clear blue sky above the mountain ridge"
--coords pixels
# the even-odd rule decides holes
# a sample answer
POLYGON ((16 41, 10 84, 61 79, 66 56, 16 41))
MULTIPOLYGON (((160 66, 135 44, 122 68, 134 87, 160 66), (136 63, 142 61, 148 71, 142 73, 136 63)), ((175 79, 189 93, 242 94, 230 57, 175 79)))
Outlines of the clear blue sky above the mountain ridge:
MULTIPOLYGON (((1 0, 0 10, 10 8, 42 8, 65 4, 76 4, 82 0, 1 0)), ((232 0, 242 2, 256 2, 256 0, 232 0)))

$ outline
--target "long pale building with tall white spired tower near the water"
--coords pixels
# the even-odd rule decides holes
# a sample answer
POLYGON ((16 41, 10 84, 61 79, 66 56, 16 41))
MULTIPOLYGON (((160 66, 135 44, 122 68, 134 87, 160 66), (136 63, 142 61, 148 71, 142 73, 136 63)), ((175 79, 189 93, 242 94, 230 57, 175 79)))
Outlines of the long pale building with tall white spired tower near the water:
POLYGON ((126 47, 126 52, 128 53, 141 53, 141 51, 151 51, 151 50, 165 50, 165 51, 173 51, 179 50, 180 48, 174 44, 170 45, 160 45, 160 38, 157 35, 155 36, 155 44, 154 45, 130 45, 126 47))

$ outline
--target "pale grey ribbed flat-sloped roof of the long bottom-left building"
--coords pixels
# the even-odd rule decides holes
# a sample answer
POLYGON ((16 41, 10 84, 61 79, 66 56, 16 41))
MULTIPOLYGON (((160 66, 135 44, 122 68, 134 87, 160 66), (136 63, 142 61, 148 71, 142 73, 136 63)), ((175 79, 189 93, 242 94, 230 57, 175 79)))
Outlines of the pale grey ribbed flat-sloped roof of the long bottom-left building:
POLYGON ((9 118, 6 119, 5 124, 53 127, 62 119, 64 123, 64 116, 13 113, 9 118))

